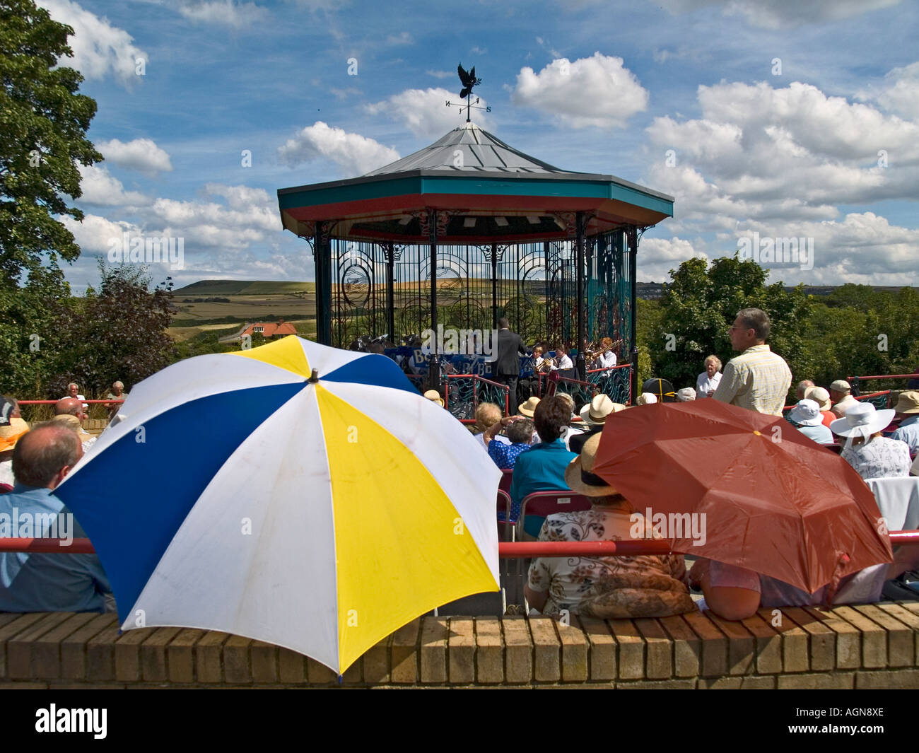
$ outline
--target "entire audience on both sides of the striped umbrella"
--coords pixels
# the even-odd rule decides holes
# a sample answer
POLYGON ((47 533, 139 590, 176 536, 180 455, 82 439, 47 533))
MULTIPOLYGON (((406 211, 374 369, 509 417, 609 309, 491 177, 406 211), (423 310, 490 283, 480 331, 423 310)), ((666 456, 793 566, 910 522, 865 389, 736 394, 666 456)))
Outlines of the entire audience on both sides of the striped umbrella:
MULTIPOLYGON (((671 397, 677 403, 714 398, 781 416, 791 374, 784 360, 765 344, 768 329, 766 314, 743 310, 729 330, 741 355, 728 363, 723 374, 720 360, 709 356, 695 386, 668 396, 642 393, 634 406, 597 394, 576 411, 572 397, 561 393, 541 400, 530 397, 517 406, 514 416, 503 416, 498 405, 478 405, 475 440, 497 467, 513 472, 512 521, 519 518, 523 500, 536 491, 571 491, 590 499, 591 507, 584 511, 548 518, 525 515, 522 537, 542 542, 624 541, 636 538, 637 518, 639 538, 660 538, 626 496, 594 473, 601 441, 615 433, 617 416, 623 411, 661 410, 644 406, 671 397)), ((560 355, 565 357, 563 351, 560 355)), ((0 483, 15 485, 11 493, 0 495, 0 515, 8 517, 14 509, 68 514, 53 490, 94 441, 83 432, 84 398, 75 388, 71 385, 71 394, 55 405, 53 421, 31 430, 18 416, 16 401, 3 399, 0 483)), ((911 473, 911 453, 919 447, 919 392, 902 393, 893 410, 876 410, 859 402, 842 380, 830 384, 829 390, 805 380, 798 384, 797 394, 799 401, 787 416, 792 426, 818 444, 839 438, 845 443, 842 459, 863 478, 911 473), (886 437, 883 432, 894 418, 899 419, 899 427, 886 437)), ((120 399, 120 389, 113 396, 120 399)), ((444 405, 437 391, 429 391, 425 398, 444 405)), ((679 410, 692 412, 695 405, 699 404, 679 410)), ((74 530, 79 530, 78 524, 74 530)), ((872 565, 832 588, 809 594, 714 560, 700 558, 687 571, 683 554, 539 557, 529 566, 525 595, 531 607, 549 614, 569 610, 601 618, 663 617, 697 610, 701 604, 725 619, 741 620, 760 606, 875 601, 887 578, 916 565, 919 547, 897 553, 892 565, 872 565), (694 601, 690 588, 700 590, 703 600, 694 601)), ((0 611, 110 610, 110 591, 96 555, 0 553, 0 611)))

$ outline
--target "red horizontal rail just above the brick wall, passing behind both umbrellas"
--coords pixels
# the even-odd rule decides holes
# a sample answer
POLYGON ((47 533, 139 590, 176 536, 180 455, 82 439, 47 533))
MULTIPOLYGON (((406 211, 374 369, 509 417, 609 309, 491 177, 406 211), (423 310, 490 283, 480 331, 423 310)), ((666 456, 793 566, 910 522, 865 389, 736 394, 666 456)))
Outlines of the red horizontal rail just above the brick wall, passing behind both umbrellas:
MULTIPOLYGON (((891 531, 893 546, 919 545, 919 531, 891 531)), ((666 554, 665 541, 630 542, 498 542, 498 556, 505 559, 526 557, 599 557, 666 554)), ((0 552, 91 554, 96 552, 89 539, 73 539, 64 546, 60 539, 0 539, 0 552)))

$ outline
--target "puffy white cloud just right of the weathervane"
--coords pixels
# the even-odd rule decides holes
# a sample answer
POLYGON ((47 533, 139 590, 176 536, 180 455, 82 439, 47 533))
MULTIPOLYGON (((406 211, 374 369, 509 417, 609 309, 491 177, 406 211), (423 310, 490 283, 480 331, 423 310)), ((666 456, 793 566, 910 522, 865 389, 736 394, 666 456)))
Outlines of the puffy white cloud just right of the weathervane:
POLYGON ((573 128, 624 128, 648 107, 648 92, 622 58, 595 52, 573 63, 553 60, 539 74, 521 68, 511 101, 554 115, 573 128))

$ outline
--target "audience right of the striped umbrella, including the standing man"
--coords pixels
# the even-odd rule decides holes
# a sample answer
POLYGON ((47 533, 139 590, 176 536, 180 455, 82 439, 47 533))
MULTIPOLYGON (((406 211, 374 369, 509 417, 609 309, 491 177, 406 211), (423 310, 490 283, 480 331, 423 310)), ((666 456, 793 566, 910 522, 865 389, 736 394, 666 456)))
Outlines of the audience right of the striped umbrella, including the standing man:
MULTIPOLYGON (((738 314, 732 327, 746 327, 746 341, 742 334, 733 333, 732 344, 743 356, 729 364, 734 366, 730 379, 721 381, 720 360, 710 356, 696 387, 675 391, 676 402, 716 397, 761 413, 782 415, 790 371, 784 360, 764 345, 768 337, 766 314, 759 312, 747 318, 743 314, 738 314), (753 353, 757 360, 750 366, 742 359, 749 361, 753 353), (760 364, 765 367, 757 370, 760 364), (767 390, 757 389, 757 376, 766 382, 767 390)), ((789 423, 817 444, 845 443, 841 457, 862 478, 911 473, 911 454, 919 449, 919 392, 902 393, 892 410, 877 410, 871 403, 859 402, 844 380, 833 382, 829 390, 804 380, 796 392, 799 401, 786 416, 789 423), (899 419, 899 427, 891 436, 884 436, 895 418, 899 419)), ((644 393, 632 409, 641 410, 641 405, 657 402, 659 395, 644 393)), ((523 498, 533 491, 571 490, 591 497, 592 507, 584 512, 557 513, 547 519, 525 516, 524 539, 538 536, 539 541, 578 542, 633 538, 630 516, 634 519, 640 513, 633 512, 628 499, 590 473, 600 434, 607 424, 615 424, 618 412, 627 408, 606 394, 597 394, 581 409, 581 420, 573 421, 573 413, 568 414, 559 405, 558 395, 542 401, 531 398, 518 407, 521 416, 498 418, 491 427, 482 429, 482 440, 490 447, 502 432, 512 442, 512 451, 488 451, 499 467, 513 469, 512 519, 519 515, 523 498), (534 416, 535 434, 528 424, 518 427, 523 415, 534 416), (543 442, 547 446, 540 447, 543 442), (511 455, 513 462, 508 462, 511 455)), ((917 472, 919 462, 913 474, 917 472)), ((650 526, 650 522, 645 523, 650 526)), ((526 596, 531 607, 545 613, 569 610, 597 617, 665 616, 697 609, 689 596, 691 586, 704 595, 699 605, 726 619, 740 620, 760 606, 877 601, 887 579, 916 566, 919 547, 902 547, 892 565, 870 566, 844 577, 833 588, 827 586, 809 594, 775 578, 704 558, 686 573, 682 555, 540 557, 530 565, 526 596)))

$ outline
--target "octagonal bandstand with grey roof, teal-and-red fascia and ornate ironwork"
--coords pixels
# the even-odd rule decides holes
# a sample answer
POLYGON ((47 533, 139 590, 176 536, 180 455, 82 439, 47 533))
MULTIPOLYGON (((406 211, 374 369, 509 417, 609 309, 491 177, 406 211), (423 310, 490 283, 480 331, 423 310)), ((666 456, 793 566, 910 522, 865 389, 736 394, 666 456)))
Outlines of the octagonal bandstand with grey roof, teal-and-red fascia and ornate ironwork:
MULTIPOLYGON (((672 197, 562 170, 471 122, 362 177, 278 189, 284 227, 312 245, 317 339, 417 345, 425 330, 492 330, 506 316, 533 345, 621 340, 635 373, 641 234, 672 197)), ((442 357, 430 357, 436 380, 442 357)), ((620 370, 621 371, 621 370, 620 370)), ((617 374, 620 402, 638 385, 617 374)), ((608 386, 608 390, 607 390, 608 386)))

